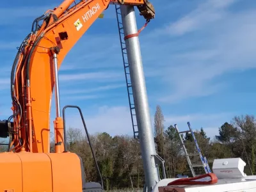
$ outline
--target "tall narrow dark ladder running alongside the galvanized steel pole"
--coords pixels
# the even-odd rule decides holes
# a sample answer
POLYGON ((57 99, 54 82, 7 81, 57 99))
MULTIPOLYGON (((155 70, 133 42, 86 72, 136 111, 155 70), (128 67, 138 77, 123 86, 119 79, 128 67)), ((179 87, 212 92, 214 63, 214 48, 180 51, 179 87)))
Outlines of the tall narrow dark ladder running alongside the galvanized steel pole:
POLYGON ((136 111, 135 111, 135 105, 134 105, 133 93, 132 93, 132 83, 131 83, 131 77, 130 77, 129 63, 128 63, 127 52, 126 52, 127 49, 124 41, 124 26, 122 23, 121 8, 120 8, 120 5, 118 4, 115 4, 115 8, 116 8, 116 20, 118 24, 118 33, 119 33, 120 44, 122 49, 122 57, 123 57, 123 63, 124 63, 124 72, 125 72, 127 93, 129 98, 130 113, 131 113, 131 119, 132 119, 132 129, 133 129, 134 138, 139 138, 138 125, 136 120, 136 111))

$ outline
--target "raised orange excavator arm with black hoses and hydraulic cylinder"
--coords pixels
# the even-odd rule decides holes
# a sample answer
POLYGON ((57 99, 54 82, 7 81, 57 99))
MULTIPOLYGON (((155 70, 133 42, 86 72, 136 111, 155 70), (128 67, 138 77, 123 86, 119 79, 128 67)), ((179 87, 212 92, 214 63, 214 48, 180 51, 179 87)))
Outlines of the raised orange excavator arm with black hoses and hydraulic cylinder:
MULTIPOLYGON (((49 152, 51 97, 58 80, 54 64, 58 63, 56 70, 59 70, 70 49, 109 4, 137 6, 147 22, 155 17, 154 7, 147 0, 84 0, 74 3, 74 0, 65 0, 58 8, 36 18, 31 33, 19 47, 11 74, 13 115, 8 120, 8 132, 12 152, 49 152)), ((60 153, 65 150, 65 141, 58 105, 57 102, 54 133, 55 149, 60 153)))

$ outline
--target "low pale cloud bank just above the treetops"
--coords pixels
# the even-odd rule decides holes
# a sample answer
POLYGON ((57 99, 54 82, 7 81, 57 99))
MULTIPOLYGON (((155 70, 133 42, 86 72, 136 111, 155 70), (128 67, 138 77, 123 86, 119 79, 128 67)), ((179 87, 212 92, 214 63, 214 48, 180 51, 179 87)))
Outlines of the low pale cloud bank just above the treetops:
MULTIPOLYGON (((129 107, 126 106, 98 106, 92 109, 82 109, 84 120, 88 131, 108 132, 112 136, 132 133, 132 122, 129 107)), ((67 127, 76 127, 83 129, 83 124, 79 113, 69 111, 67 113, 67 127), (70 115, 68 114, 70 113, 70 115)), ((207 136, 214 138, 218 134, 218 128, 225 122, 229 122, 232 113, 195 113, 190 115, 164 115, 164 125, 167 128, 170 125, 177 124, 180 131, 188 130, 187 122, 190 122, 193 131, 200 130, 201 127, 207 133, 207 136)), ((152 131, 154 129, 154 116, 151 116, 152 131)))

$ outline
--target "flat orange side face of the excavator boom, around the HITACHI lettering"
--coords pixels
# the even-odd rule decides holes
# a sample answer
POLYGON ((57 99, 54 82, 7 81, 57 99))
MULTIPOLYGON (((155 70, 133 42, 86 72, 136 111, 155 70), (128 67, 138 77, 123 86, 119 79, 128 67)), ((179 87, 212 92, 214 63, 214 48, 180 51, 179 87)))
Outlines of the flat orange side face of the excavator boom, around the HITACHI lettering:
POLYGON ((90 3, 84 8, 81 8, 79 12, 70 15, 68 19, 60 19, 54 25, 50 26, 49 28, 52 29, 45 33, 45 38, 42 38, 40 46, 35 49, 31 58, 29 70, 32 99, 31 115, 33 118, 33 127, 36 127, 33 136, 33 152, 49 152, 49 119, 51 96, 54 88, 54 76, 52 74, 53 63, 52 56, 49 55, 49 48, 53 47, 54 44, 60 47, 60 53, 58 54, 58 68, 60 68, 62 61, 70 49, 108 5, 108 3, 102 0, 89 2, 90 3), (99 4, 100 10, 95 13, 95 15, 92 15, 90 20, 83 22, 83 15, 88 12, 89 7, 95 6, 96 4, 99 4), (83 22, 83 27, 79 31, 77 31, 75 27, 77 19, 83 22), (59 33, 61 32, 67 32, 67 40, 59 41, 59 33), (54 42, 54 44, 52 42, 54 42))

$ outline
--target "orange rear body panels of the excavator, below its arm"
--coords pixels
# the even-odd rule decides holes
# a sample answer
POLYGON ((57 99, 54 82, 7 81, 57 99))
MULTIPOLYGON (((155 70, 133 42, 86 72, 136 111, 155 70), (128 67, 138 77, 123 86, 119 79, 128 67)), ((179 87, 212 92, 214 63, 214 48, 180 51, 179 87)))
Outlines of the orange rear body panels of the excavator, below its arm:
POLYGON ((0 191, 82 191, 81 164, 76 154, 2 153, 0 191))

